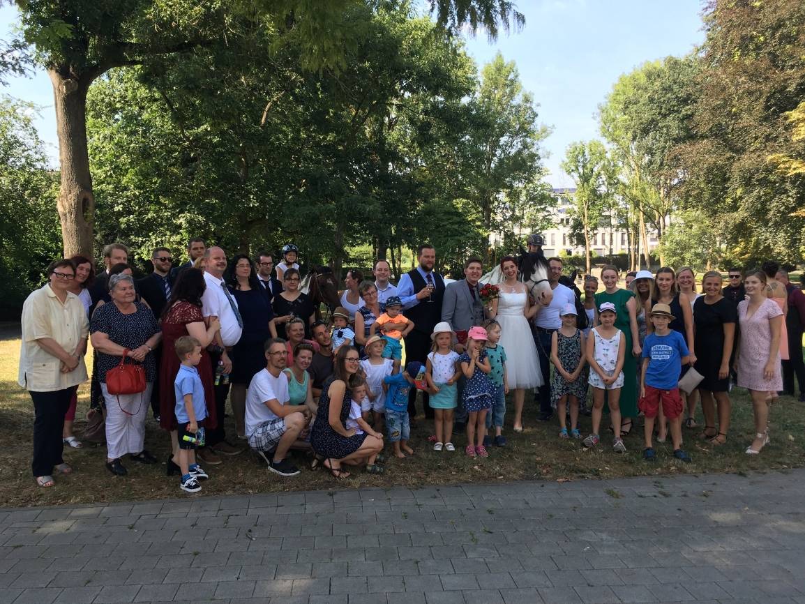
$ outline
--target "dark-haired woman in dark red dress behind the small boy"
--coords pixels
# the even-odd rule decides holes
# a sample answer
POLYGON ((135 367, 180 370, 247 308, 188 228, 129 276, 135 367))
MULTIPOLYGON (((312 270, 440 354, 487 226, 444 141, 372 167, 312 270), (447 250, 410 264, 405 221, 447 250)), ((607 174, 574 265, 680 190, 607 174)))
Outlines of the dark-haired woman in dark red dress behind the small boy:
MULTIPOLYGON (((171 455, 167 458, 167 475, 179 471, 179 440, 176 436, 176 397, 173 382, 181 364, 176 356, 174 343, 182 336, 192 336, 201 343, 201 362, 198 365, 201 383, 204 385, 204 399, 207 404, 206 428, 217 426, 215 412, 215 392, 213 390, 213 366, 210 364, 206 348, 221 323, 214 319, 204 324, 201 316, 201 296, 204 294, 204 273, 197 268, 181 271, 179 279, 173 284, 171 300, 165 305, 162 315, 162 363, 159 366, 159 425, 171 432, 171 455)), ((205 460, 206 463, 216 463, 205 460)), ((221 463, 217 461, 217 463, 221 463)))

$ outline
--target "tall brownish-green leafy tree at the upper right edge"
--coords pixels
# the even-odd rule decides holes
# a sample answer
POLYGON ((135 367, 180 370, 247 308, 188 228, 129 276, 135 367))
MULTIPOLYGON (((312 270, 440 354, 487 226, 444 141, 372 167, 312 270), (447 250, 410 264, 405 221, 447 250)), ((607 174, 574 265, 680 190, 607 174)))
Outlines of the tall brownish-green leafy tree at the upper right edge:
POLYGON ((677 150, 683 201, 718 226, 738 258, 796 263, 805 254, 805 173, 790 113, 805 97, 805 4, 712 2, 696 78, 696 140, 677 150))

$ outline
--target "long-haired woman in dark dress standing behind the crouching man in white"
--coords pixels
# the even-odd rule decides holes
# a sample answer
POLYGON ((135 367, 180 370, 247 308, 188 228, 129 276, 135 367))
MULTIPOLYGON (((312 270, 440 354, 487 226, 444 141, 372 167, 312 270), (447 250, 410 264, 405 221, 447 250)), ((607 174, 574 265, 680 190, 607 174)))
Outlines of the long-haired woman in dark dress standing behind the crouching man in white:
POLYGON ((243 335, 232 347, 232 412, 235 416, 235 429, 238 438, 246 439, 246 388, 254 374, 266 367, 263 345, 271 337, 269 324, 274 311, 266 295, 266 290, 257 280, 257 271, 246 254, 238 254, 230 265, 229 291, 237 300, 237 309, 243 320, 243 335))

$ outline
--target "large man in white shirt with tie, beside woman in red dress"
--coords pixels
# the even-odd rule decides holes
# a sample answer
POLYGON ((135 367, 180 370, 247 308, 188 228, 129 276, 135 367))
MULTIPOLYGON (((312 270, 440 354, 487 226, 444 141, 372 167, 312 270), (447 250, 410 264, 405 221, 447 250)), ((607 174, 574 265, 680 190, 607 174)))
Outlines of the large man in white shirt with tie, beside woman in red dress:
MULTIPOLYGON (((237 301, 226 288, 223 276, 226 270, 226 252, 218 246, 209 247, 204 250, 204 283, 207 288, 204 296, 201 296, 201 314, 209 321, 217 317, 221 321, 221 331, 215 334, 213 348, 210 351, 210 362, 213 363, 213 371, 221 366, 224 374, 232 371, 232 360, 229 358, 228 351, 241 339, 243 332, 243 320, 241 313, 237 309, 237 301)), ((221 463, 221 459, 215 453, 224 455, 237 455, 243 449, 233 447, 225 441, 226 432, 224 429, 224 411, 226 407, 226 397, 229 395, 229 379, 221 379, 215 387, 215 408, 218 418, 217 428, 207 431, 207 447, 200 449, 199 456, 207 464, 216 465, 221 463), (214 449, 211 451, 210 449, 214 449)))

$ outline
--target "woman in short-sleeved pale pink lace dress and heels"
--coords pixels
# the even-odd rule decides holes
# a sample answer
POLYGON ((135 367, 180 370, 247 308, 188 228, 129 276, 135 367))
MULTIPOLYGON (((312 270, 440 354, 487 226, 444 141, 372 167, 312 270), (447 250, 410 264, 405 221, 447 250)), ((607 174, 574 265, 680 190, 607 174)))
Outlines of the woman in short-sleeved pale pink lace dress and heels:
POLYGON ((740 341, 736 354, 737 385, 749 390, 755 420, 755 438, 746 449, 757 455, 769 444, 769 406, 782 390, 780 332, 782 311, 766 298, 766 274, 749 273, 744 281, 747 300, 738 303, 740 341))

